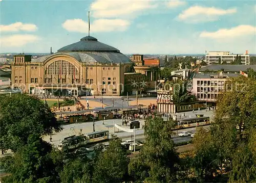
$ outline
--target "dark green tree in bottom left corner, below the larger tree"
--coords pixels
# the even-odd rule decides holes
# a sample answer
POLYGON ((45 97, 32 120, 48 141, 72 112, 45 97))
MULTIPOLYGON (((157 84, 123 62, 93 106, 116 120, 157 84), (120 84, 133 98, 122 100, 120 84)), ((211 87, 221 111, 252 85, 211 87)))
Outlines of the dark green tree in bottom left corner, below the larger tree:
POLYGON ((10 173, 3 182, 58 182, 59 176, 51 159, 51 150, 52 146, 38 135, 30 135, 28 143, 20 147, 13 157, 1 159, 1 164, 10 173))

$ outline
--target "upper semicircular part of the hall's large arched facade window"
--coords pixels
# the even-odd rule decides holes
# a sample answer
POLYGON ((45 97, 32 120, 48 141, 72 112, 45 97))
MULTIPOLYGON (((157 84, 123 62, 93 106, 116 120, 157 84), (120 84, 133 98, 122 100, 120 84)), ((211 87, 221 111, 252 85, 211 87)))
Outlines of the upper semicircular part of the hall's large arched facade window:
POLYGON ((53 62, 51 65, 47 67, 46 70, 47 74, 53 74, 53 75, 78 75, 79 72, 77 68, 74 66, 74 64, 64 61, 64 60, 59 60, 53 62))

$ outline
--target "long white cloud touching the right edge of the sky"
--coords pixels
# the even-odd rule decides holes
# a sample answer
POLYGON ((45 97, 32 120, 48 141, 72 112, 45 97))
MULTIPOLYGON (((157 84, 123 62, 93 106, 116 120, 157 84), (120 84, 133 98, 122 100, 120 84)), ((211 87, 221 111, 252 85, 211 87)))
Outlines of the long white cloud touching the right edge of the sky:
POLYGON ((251 25, 239 25, 231 29, 220 29, 216 32, 202 32, 199 37, 223 39, 246 35, 256 35, 256 27, 253 27, 251 25))

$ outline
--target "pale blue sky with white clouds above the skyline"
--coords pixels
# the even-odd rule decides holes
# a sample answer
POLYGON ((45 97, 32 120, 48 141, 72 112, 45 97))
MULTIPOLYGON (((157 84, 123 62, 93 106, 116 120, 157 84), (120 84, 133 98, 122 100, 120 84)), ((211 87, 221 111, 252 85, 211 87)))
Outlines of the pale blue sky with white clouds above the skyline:
POLYGON ((256 54, 256 1, 0 0, 0 53, 55 53, 90 35, 123 54, 256 54))

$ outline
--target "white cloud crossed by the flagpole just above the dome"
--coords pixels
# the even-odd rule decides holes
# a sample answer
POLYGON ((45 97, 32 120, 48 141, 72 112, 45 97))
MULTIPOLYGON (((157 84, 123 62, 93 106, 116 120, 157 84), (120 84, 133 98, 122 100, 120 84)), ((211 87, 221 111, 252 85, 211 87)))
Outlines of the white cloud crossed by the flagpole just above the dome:
MULTIPOLYGON (((90 24, 92 32, 112 32, 125 31, 130 25, 130 21, 123 19, 97 19, 90 24)), ((62 23, 62 27, 69 32, 88 32, 88 22, 82 19, 68 19, 62 23)))

